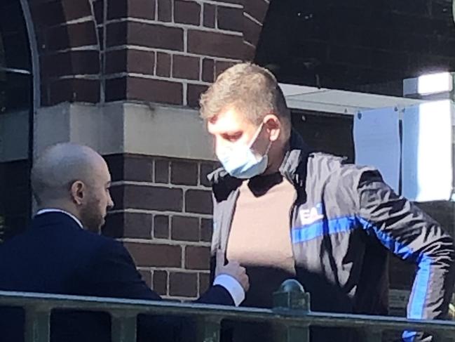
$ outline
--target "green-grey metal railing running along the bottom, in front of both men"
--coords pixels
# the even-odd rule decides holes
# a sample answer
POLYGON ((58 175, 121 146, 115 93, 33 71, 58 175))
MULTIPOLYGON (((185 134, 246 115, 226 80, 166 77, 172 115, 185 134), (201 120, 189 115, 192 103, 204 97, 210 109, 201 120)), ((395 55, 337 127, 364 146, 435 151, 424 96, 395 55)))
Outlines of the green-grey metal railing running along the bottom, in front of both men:
POLYGON ((7 291, 0 291, 0 306, 25 308, 25 342, 49 341, 50 312, 53 309, 109 313, 113 342, 136 341, 137 315, 140 314, 196 317, 198 341, 201 342, 219 342, 224 319, 268 322, 280 327, 281 334, 276 339, 283 342, 308 342, 309 327, 315 326, 360 329, 368 342, 381 341, 381 334, 387 329, 426 331, 444 338, 444 341, 455 341, 455 322, 451 321, 312 312, 309 310, 309 294, 295 280, 285 281, 273 295, 272 309, 7 291))

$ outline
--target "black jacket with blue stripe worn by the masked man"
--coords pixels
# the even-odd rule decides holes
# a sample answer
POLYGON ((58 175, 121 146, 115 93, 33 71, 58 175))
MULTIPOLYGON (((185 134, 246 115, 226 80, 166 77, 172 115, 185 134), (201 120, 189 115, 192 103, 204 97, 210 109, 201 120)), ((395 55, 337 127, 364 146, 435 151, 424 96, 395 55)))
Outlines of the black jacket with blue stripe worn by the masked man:
MULTIPOLYGON (((296 190, 290 235, 297 279, 311 294, 312 310, 386 315, 391 252, 417 266, 407 317, 446 317, 454 287, 454 241, 433 218, 395 195, 379 171, 310 153, 292 133, 280 173, 296 190)), ((226 250, 241 180, 223 169, 210 178, 215 265, 215 251, 226 250)), ((405 336, 413 339, 412 333, 405 336)))

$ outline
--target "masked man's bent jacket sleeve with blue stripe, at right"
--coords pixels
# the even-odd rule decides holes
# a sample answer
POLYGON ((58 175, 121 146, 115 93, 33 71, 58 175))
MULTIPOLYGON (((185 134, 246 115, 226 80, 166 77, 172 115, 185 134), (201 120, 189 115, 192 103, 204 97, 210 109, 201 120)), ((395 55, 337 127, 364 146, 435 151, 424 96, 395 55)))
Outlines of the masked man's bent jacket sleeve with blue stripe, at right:
POLYGON ((455 279, 453 239, 433 218, 395 195, 378 171, 362 173, 357 192, 358 219, 367 234, 417 266, 407 317, 444 319, 455 279))

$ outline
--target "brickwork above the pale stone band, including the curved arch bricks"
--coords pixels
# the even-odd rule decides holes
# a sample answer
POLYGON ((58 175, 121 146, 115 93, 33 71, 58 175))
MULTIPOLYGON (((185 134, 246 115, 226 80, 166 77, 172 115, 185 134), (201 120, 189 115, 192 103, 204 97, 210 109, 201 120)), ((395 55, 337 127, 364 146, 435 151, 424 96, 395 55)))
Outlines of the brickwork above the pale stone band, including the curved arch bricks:
POLYGON ((191 107, 215 75, 254 58, 269 6, 267 0, 29 3, 42 105, 139 100, 191 107))

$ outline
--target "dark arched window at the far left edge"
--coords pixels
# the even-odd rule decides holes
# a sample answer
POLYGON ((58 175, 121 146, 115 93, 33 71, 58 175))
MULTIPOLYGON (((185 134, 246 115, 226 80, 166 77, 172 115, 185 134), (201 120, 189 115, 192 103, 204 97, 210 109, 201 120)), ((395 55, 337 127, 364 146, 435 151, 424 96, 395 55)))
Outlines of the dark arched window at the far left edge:
POLYGON ((0 2, 0 239, 30 216, 32 66, 19 0, 0 2))

